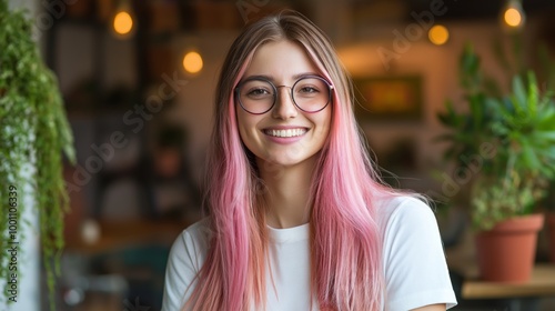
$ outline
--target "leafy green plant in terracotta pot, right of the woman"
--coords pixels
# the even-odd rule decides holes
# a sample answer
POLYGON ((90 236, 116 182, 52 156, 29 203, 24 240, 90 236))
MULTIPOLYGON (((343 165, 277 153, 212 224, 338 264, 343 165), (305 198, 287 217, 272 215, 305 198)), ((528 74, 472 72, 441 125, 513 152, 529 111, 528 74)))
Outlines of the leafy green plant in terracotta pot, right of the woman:
POLYGON ((480 57, 470 44, 460 70, 467 109, 458 112, 447 101, 438 119, 451 130, 441 137, 450 142, 445 157, 458 167, 472 165, 470 204, 481 277, 525 281, 544 222, 535 208, 555 175, 555 104, 532 71, 515 74, 511 91, 501 94, 482 73, 480 57), (518 238, 509 241, 509 237, 518 238), (516 259, 524 262, 523 270, 512 261, 516 259))

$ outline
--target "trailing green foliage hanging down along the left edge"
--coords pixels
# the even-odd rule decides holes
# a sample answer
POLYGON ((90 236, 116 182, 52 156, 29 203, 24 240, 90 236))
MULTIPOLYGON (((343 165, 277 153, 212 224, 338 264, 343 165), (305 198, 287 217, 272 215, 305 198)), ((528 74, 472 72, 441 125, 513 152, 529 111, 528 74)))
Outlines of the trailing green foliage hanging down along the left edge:
MULTIPOLYGON (((29 273, 21 267, 14 270, 13 258, 18 264, 29 260, 28 250, 19 249, 26 239, 33 238, 24 232, 40 232, 50 309, 56 310, 54 281, 63 248, 62 217, 68 208, 62 151, 74 162, 74 150, 57 79, 43 63, 31 29, 32 21, 23 11, 11 11, 7 1, 0 0, 0 241, 2 250, 17 249, 17 257, 1 252, 0 278, 17 280, 29 273), (31 198, 30 202, 24 198, 31 198), (40 229, 26 231, 29 223, 22 214, 29 214, 29 209, 40 229)), ((2 298, 13 302, 8 285, 2 298)), ((20 295, 17 300, 20 308, 20 300, 34 299, 20 295)))

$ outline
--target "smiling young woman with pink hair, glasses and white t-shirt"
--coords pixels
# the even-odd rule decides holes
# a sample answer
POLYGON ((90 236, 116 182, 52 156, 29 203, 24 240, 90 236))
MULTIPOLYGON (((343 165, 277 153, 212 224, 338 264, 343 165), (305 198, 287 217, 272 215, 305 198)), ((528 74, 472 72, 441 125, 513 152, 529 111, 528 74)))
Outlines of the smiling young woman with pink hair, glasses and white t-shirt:
POLYGON ((329 39, 285 11, 246 27, 216 90, 209 215, 171 250, 164 311, 445 310, 437 223, 384 187, 329 39))

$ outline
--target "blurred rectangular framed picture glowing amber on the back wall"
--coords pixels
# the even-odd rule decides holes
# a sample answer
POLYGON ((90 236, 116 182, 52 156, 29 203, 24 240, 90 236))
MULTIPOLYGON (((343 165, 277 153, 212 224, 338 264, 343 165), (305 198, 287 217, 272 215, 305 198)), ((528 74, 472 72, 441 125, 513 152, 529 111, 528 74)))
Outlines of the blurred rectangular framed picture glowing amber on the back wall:
POLYGON ((360 120, 422 119, 422 77, 366 77, 353 80, 355 113, 360 120))

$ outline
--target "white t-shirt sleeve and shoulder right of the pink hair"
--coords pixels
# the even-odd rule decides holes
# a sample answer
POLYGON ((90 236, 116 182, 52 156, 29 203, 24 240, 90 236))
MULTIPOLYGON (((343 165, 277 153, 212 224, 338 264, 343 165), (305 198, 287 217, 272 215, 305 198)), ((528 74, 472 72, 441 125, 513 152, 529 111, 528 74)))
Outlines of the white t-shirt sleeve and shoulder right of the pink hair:
POLYGON ((413 197, 376 204, 382 233, 386 310, 456 304, 443 243, 432 208, 413 197))

